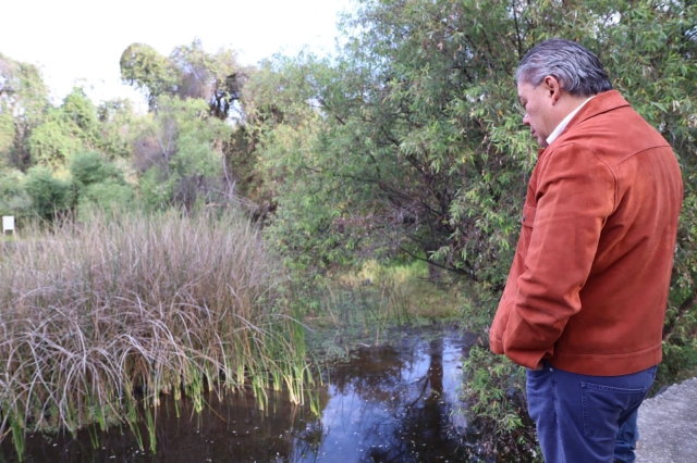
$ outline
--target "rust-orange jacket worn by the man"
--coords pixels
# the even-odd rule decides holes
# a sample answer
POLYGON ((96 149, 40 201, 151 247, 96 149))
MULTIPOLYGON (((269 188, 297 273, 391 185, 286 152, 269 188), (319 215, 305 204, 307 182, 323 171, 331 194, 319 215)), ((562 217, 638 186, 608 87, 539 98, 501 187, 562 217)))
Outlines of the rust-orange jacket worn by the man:
POLYGON ((683 200, 671 147, 615 90, 540 150, 490 348, 616 376, 661 361, 683 200))

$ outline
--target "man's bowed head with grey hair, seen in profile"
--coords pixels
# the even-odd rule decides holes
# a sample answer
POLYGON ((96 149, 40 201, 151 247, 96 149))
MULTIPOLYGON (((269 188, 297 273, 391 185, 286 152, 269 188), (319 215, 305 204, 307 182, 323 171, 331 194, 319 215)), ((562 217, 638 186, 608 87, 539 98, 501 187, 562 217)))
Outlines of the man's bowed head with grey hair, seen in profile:
POLYGON ((549 39, 523 57, 515 80, 523 123, 541 146, 586 98, 612 89, 598 58, 571 40, 549 39))

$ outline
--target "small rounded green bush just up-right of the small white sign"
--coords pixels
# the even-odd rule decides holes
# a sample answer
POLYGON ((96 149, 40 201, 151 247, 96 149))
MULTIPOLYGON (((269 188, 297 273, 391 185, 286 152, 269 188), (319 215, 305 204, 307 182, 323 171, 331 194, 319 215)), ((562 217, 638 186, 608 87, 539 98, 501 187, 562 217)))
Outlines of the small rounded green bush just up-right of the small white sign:
POLYGON ((46 166, 29 167, 24 180, 25 190, 32 198, 34 212, 49 222, 68 212, 72 203, 70 185, 56 178, 46 166))

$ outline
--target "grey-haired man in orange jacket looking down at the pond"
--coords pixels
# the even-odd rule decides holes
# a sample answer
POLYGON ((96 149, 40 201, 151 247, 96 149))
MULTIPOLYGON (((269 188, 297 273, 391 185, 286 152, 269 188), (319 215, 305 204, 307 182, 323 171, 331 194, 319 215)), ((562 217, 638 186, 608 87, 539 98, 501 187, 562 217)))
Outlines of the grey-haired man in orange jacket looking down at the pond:
POLYGON ((541 42, 515 77, 542 149, 491 350, 528 368, 548 463, 634 461, 634 442, 624 455, 615 443, 634 434, 661 361, 680 168, 578 43, 541 42))

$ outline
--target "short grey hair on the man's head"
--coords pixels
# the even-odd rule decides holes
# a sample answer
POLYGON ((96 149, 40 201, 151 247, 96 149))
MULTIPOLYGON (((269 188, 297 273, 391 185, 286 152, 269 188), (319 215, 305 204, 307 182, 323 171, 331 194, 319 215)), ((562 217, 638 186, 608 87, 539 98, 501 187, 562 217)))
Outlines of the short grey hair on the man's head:
POLYGON ((575 41, 552 38, 528 51, 515 73, 515 82, 537 87, 545 77, 555 77, 563 90, 575 97, 590 97, 612 90, 598 57, 575 41))

